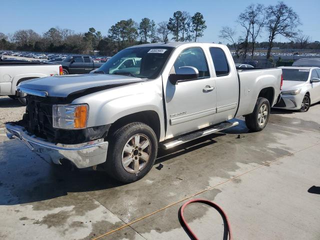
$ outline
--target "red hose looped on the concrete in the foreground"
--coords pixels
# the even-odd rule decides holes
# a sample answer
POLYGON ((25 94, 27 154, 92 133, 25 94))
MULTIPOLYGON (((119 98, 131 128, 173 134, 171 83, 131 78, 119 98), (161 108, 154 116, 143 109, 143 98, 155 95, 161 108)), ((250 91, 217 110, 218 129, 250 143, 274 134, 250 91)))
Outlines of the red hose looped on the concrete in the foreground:
POLYGON ((204 203, 204 204, 207 204, 209 206, 212 206, 214 207, 215 209, 217 209, 220 214, 222 215, 222 217, 224 218, 225 222, 226 222, 226 227, 227 227, 227 230, 228 230, 228 234, 229 234, 229 240, 232 240, 232 231, 231 231, 231 226, 230 226, 230 223, 229 223, 229 219, 226 215, 226 213, 223 211, 223 209, 215 204, 214 202, 212 201, 208 201, 208 200, 203 200, 203 199, 193 199, 193 200, 189 200, 187 202, 185 202, 182 206, 181 206, 181 210, 180 210, 180 217, 181 217, 181 224, 183 224, 185 227, 186 227, 186 230, 188 231, 188 233, 195 239, 195 240, 198 240, 198 238, 196 237, 196 235, 194 234, 194 232, 191 230, 191 228, 189 227, 189 225, 186 223, 186 220, 184 219, 184 216, 183 216, 183 211, 184 211, 184 208, 186 207, 186 205, 192 203, 192 202, 201 202, 201 203, 204 203))

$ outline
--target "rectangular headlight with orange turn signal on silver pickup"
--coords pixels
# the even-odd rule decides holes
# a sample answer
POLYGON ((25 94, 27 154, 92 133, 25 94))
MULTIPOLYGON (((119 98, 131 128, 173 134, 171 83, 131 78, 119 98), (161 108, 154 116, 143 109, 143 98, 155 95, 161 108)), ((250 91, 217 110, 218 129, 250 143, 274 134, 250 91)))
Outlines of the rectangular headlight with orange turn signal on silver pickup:
POLYGON ((56 128, 85 128, 88 105, 53 105, 52 124, 56 128))

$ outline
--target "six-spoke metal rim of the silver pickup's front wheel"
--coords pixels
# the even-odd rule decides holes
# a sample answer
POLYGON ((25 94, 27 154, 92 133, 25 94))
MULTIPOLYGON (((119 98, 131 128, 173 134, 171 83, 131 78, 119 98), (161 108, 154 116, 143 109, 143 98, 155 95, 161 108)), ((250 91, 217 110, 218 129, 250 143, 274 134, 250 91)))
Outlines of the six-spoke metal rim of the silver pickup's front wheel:
POLYGON ((122 166, 127 172, 142 170, 151 156, 151 142, 144 134, 135 134, 125 143, 122 150, 122 166))

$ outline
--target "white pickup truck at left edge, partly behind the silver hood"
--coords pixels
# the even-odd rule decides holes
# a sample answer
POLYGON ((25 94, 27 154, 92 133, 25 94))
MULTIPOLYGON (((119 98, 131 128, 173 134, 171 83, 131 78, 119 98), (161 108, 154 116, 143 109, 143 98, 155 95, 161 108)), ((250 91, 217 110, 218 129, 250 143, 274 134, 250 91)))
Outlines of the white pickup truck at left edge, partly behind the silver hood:
POLYGON ((62 74, 59 64, 0 60, 0 95, 8 95, 25 104, 25 94, 15 90, 21 81, 59 74, 62 74))

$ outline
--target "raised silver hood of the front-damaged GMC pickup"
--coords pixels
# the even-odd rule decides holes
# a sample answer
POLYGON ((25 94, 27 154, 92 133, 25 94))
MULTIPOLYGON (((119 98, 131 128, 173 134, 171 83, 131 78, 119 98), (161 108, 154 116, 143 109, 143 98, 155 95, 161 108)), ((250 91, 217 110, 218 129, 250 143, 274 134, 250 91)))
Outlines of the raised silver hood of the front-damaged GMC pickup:
POLYGON ((138 77, 114 74, 74 74, 48 76, 22 81, 18 87, 44 91, 47 96, 67 97, 87 89, 98 90, 144 81, 138 77))

